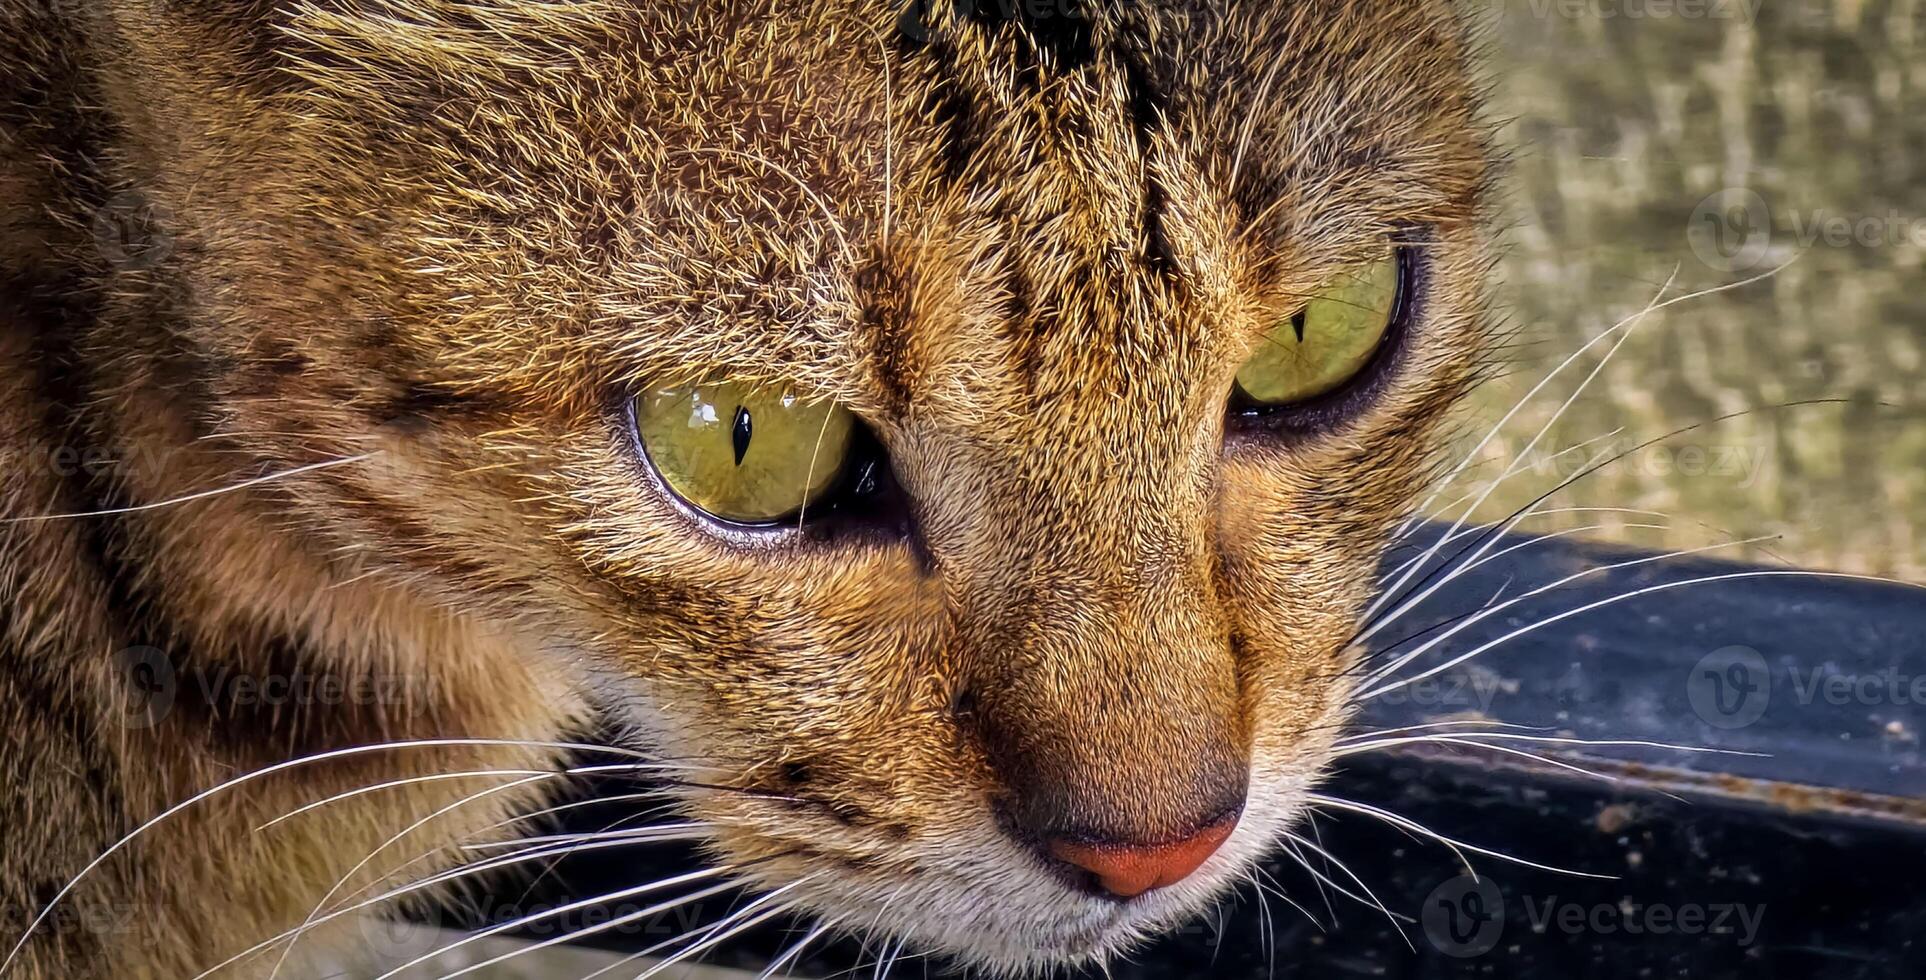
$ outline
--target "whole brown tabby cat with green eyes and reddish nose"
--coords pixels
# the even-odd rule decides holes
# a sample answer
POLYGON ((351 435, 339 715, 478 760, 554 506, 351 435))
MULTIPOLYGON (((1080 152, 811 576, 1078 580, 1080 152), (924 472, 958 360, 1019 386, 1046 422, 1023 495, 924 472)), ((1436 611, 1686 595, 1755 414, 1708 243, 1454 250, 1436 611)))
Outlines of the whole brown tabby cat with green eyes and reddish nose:
POLYGON ((591 770, 740 922, 1034 974, 1210 907, 1498 348, 1473 48, 0 0, 0 976, 270 974, 591 770))

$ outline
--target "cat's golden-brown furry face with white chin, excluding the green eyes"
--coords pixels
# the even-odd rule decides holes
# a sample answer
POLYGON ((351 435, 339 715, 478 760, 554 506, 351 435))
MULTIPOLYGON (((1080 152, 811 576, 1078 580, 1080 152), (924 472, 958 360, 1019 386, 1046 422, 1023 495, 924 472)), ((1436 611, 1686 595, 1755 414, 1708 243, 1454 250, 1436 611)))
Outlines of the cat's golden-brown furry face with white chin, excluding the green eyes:
POLYGON ((743 876, 1025 968, 1194 913, 1300 814, 1485 345, 1487 146, 1437 4, 1009 6, 123 21, 193 135, 152 187, 227 426, 379 452, 285 481, 316 533, 697 766, 743 876), (1235 408, 1387 243, 1369 364, 1235 408), (847 408, 874 493, 705 516, 636 433, 690 383, 847 408), (1129 901, 1073 864, 1225 830, 1129 901))

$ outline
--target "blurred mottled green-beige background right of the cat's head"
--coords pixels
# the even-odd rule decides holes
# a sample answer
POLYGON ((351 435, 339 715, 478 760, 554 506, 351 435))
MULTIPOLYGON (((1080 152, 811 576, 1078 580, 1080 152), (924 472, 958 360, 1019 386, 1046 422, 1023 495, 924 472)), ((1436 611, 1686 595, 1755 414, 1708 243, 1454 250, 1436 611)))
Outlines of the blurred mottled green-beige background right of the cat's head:
POLYGON ((1597 360, 1547 385, 1481 452, 1475 474, 1520 470, 1481 518, 1525 504, 1589 451, 1843 399, 1691 431, 1549 504, 1658 510, 1668 529, 1597 512, 1527 528, 1606 524, 1589 533, 1656 547, 1774 535, 1726 554, 1926 580, 1922 2, 1473 2, 1491 29, 1493 112, 1516 150, 1500 298, 1522 347, 1479 393, 1466 449, 1668 277, 1672 298, 1789 262, 1645 318, 1525 452, 1597 360))

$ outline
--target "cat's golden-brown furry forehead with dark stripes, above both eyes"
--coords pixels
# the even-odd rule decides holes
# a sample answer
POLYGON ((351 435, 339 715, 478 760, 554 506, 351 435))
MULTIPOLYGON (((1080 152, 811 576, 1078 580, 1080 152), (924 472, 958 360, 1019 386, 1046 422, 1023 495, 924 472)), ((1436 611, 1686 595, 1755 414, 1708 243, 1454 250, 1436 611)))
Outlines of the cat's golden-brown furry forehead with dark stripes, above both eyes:
POLYGON ((1427 2, 304 10, 281 58, 395 158, 410 304, 512 314, 462 327, 497 372, 886 410, 1206 356, 1391 229, 1470 219, 1485 175, 1427 2))

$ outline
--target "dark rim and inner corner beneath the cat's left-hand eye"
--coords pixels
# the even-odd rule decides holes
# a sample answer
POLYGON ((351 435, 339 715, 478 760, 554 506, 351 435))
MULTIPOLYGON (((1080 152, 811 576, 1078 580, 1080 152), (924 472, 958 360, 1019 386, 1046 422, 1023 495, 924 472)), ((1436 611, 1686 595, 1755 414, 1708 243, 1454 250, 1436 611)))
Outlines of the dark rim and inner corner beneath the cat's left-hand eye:
POLYGON ((649 489, 668 501, 691 524, 740 545, 763 545, 774 539, 795 535, 836 537, 849 529, 874 529, 878 526, 907 526, 907 508, 901 501, 901 487, 890 468, 890 454, 874 429, 855 418, 849 452, 844 456, 842 472, 815 501, 765 522, 745 522, 711 514, 699 504, 676 493, 668 477, 655 468, 655 456, 641 437, 636 418, 638 393, 622 393, 618 418, 628 439, 630 452, 643 474, 649 489))

